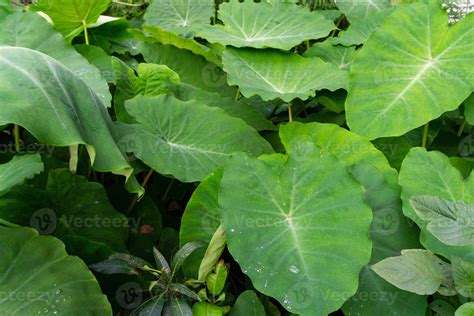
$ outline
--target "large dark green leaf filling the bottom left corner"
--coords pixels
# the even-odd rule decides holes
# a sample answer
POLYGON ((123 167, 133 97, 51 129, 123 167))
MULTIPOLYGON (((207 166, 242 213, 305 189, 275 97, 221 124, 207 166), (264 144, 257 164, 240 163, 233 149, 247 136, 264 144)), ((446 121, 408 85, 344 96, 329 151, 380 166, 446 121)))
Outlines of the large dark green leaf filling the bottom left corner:
POLYGON ((0 227, 0 244, 2 314, 112 315, 92 273, 58 239, 0 227))

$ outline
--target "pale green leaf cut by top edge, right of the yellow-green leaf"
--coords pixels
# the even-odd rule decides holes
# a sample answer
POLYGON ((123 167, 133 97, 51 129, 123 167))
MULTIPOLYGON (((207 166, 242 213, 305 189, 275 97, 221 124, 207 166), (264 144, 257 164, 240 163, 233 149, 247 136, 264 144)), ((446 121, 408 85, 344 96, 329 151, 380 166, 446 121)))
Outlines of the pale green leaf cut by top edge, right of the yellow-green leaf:
POLYGON ((213 15, 212 0, 153 0, 145 13, 145 25, 185 34, 196 25, 209 24, 213 15))

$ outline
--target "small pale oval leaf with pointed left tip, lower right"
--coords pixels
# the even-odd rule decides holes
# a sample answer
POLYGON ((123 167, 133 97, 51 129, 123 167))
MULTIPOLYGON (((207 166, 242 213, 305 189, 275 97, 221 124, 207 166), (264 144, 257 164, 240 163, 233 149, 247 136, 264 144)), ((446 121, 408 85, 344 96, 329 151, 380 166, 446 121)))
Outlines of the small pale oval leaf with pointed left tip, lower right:
POLYGON ((441 265, 442 261, 431 252, 411 249, 376 263, 372 270, 402 290, 430 295, 445 279, 441 265))

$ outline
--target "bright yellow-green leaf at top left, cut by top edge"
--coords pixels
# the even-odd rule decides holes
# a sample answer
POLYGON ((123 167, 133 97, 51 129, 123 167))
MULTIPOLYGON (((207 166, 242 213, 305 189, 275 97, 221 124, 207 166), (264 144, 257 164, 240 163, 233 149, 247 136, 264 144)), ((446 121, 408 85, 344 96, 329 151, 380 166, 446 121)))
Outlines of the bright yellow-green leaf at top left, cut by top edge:
POLYGON ((46 13, 54 27, 71 42, 85 27, 97 22, 111 0, 38 0, 33 10, 46 13))

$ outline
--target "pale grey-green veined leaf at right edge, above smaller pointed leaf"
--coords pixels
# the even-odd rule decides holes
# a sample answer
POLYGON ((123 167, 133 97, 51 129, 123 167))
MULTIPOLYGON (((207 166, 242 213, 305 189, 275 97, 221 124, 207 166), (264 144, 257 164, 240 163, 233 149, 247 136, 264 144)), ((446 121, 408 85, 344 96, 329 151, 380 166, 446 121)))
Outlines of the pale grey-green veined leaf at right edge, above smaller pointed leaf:
POLYGON ((448 201, 436 196, 410 199, 416 215, 427 222, 426 228, 447 245, 474 245, 474 204, 448 201))

